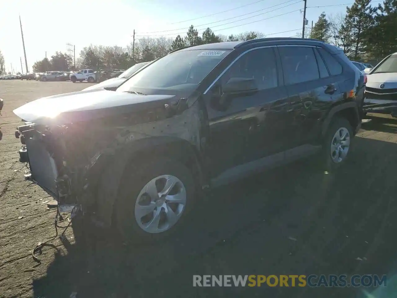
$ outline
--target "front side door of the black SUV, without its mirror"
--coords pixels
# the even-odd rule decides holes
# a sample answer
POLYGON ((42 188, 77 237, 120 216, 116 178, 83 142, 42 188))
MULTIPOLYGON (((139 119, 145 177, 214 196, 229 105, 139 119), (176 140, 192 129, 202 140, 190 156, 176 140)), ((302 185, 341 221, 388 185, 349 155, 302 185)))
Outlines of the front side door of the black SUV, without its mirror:
POLYGON ((231 62, 209 90, 209 155, 212 175, 282 150, 287 91, 275 47, 252 48, 231 62), (254 79, 258 91, 220 104, 222 86, 232 78, 254 79))

